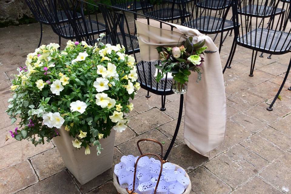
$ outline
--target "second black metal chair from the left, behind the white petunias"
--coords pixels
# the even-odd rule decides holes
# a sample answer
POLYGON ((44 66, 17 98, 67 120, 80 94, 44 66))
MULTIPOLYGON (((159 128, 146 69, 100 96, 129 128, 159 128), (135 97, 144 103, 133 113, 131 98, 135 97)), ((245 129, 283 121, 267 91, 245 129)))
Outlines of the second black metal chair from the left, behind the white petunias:
POLYGON ((98 35, 105 32, 105 24, 98 22, 98 18, 86 18, 84 9, 88 12, 88 8, 83 7, 83 3, 76 0, 59 0, 55 6, 46 6, 50 0, 38 0, 38 7, 41 9, 44 18, 49 22, 52 30, 59 35, 59 45, 61 45, 61 37, 73 40, 78 35, 98 35), (62 5, 61 5, 62 4, 62 5), (60 18, 58 18, 58 9, 62 8, 60 18), (77 12, 77 10, 80 12, 77 12), (66 19, 66 20, 65 20, 66 19), (63 22, 66 21, 66 22, 63 22), (72 25, 76 23, 76 25, 72 25), (74 29, 76 27, 76 29, 74 29))

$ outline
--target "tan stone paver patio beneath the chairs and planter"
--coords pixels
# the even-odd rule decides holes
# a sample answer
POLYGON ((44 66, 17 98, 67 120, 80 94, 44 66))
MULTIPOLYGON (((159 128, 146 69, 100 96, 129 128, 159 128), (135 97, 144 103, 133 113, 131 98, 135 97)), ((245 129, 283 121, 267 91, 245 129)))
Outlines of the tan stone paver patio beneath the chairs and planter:
MULTIPOLYGON (((58 42, 48 26, 44 26, 43 44, 58 42)), ((113 168, 81 185, 65 168, 53 143, 34 147, 28 141, 9 137, 10 119, 4 111, 10 98, 9 87, 16 68, 23 65, 26 55, 39 41, 39 25, 30 24, 0 29, 0 194, 9 193, 107 193, 116 194, 112 182, 113 168)), ((62 44, 65 44, 62 40, 62 44)), ((216 41, 219 43, 218 40, 216 41)), ((221 52, 224 66, 232 37, 227 37, 221 52)), ((62 45, 64 48, 64 45, 62 45)), ((190 150, 183 142, 183 125, 168 160, 182 166, 192 182, 193 194, 279 194, 291 189, 291 76, 282 100, 273 112, 266 110, 285 75, 290 53, 273 55, 272 59, 257 58, 254 77, 249 77, 251 51, 237 48, 232 68, 224 74, 227 97, 227 129, 225 143, 206 158, 190 150)), ((133 100, 129 128, 117 134, 115 165, 122 155, 139 152, 136 142, 153 138, 169 143, 176 126, 179 95, 167 96, 166 111, 161 112, 160 96, 140 90, 133 100)), ((143 145, 158 152, 158 147, 143 145)))

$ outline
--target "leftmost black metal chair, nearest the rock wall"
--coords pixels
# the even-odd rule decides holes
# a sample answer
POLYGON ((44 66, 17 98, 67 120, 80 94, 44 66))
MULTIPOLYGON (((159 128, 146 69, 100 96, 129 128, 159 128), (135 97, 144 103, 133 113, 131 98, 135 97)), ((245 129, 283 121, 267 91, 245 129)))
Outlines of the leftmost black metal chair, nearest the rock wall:
MULTIPOLYGON (((50 25, 50 22, 46 19, 46 17, 43 15, 42 10, 39 8, 38 3, 42 3, 41 1, 37 1, 37 0, 25 0, 26 4, 28 5, 30 11, 32 12, 32 14, 34 15, 36 21, 39 22, 40 24, 40 38, 39 38, 39 43, 38 43, 38 47, 40 46, 41 42, 42 42, 42 24, 45 25, 50 25)), ((49 6, 51 8, 56 6, 56 0, 50 0, 50 1, 46 1, 46 6, 49 6)), ((57 21, 59 23, 65 23, 68 22, 68 18, 65 15, 65 12, 63 10, 57 11, 56 13, 48 13, 49 15, 54 15, 56 14, 56 18, 57 21)), ((81 17, 80 13, 77 13, 78 17, 81 17)))

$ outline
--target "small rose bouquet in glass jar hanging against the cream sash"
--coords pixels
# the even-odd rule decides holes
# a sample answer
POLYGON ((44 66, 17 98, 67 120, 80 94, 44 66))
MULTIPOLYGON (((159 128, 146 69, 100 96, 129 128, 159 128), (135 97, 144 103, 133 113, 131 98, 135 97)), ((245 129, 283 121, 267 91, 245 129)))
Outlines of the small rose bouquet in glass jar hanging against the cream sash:
POLYGON ((193 44, 192 39, 193 37, 187 37, 180 47, 160 46, 156 48, 161 61, 160 64, 156 65, 156 68, 160 70, 156 76, 156 81, 159 82, 166 73, 172 73, 172 90, 177 94, 187 92, 187 83, 191 71, 198 74, 196 82, 201 81, 200 67, 204 60, 200 55, 213 53, 213 51, 206 51, 207 46, 203 47, 205 40, 193 44))

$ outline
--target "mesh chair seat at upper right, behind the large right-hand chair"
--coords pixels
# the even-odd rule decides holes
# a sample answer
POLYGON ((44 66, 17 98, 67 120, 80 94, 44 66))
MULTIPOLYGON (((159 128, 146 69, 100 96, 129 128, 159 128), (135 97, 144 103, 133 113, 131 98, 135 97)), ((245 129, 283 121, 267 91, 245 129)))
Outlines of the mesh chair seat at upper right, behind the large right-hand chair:
POLYGON ((259 18, 271 17, 272 15, 281 14, 281 12, 285 12, 285 10, 281 8, 276 8, 275 12, 273 11, 273 7, 265 6, 265 5, 247 5, 238 10, 239 14, 255 16, 259 18))

